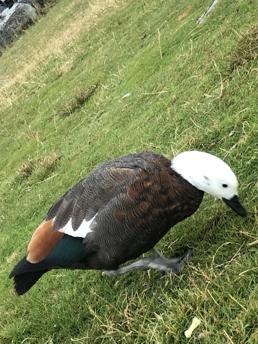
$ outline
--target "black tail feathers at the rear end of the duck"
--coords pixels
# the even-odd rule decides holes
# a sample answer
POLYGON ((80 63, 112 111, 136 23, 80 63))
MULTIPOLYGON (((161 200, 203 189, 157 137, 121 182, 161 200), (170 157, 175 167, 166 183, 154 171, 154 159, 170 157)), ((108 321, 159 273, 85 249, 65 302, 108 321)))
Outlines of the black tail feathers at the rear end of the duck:
POLYGON ((49 271, 44 261, 39 264, 32 264, 24 257, 12 270, 9 278, 14 277, 14 288, 18 295, 26 293, 37 280, 49 271))

